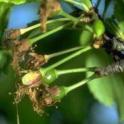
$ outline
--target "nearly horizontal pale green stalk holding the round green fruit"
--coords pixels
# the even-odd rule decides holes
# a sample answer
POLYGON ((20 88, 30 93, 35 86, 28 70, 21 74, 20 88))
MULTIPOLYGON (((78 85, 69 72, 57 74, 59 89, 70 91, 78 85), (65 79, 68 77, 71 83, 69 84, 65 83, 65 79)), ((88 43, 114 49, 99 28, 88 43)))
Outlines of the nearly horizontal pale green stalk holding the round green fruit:
POLYGON ((95 67, 89 67, 89 68, 76 68, 76 69, 66 69, 66 70, 56 70, 58 75, 63 74, 72 74, 72 73, 80 73, 80 72, 94 72, 95 67))

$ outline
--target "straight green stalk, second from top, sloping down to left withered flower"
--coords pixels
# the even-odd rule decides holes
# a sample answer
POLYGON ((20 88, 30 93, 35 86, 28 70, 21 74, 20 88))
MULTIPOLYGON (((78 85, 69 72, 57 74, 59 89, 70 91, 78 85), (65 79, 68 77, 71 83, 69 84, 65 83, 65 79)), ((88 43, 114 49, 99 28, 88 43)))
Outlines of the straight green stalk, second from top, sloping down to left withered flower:
POLYGON ((35 38, 29 39, 28 41, 32 45, 32 44, 36 43, 37 41, 39 41, 39 40, 41 40, 41 39, 43 39, 43 38, 45 38, 45 37, 47 37, 47 36, 49 36, 51 34, 54 34, 54 33, 58 32, 58 31, 64 29, 65 27, 71 25, 71 24, 72 23, 70 23, 70 22, 66 23, 66 24, 61 25, 61 26, 59 26, 59 27, 57 27, 57 28, 55 28, 55 29, 53 29, 51 31, 45 32, 45 33, 43 33, 43 34, 41 34, 41 35, 39 35, 39 36, 37 36, 35 38))

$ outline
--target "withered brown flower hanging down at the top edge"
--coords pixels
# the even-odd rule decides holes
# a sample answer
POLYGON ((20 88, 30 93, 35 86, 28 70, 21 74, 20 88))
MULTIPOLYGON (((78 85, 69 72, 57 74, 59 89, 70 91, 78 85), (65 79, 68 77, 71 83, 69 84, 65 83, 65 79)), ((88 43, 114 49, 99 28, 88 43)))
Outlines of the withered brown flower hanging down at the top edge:
POLYGON ((61 6, 58 0, 42 0, 40 8, 40 22, 42 31, 46 31, 47 19, 58 13, 61 6))

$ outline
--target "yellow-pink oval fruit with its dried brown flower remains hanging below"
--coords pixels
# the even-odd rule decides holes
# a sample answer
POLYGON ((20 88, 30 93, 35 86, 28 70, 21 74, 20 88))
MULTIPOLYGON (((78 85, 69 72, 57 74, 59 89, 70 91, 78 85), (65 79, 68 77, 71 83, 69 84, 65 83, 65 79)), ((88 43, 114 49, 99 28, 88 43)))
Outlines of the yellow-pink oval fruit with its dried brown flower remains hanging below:
POLYGON ((31 71, 22 77, 22 84, 19 84, 15 92, 15 103, 21 102, 24 96, 28 96, 32 102, 34 111, 42 113, 42 106, 39 97, 45 85, 42 83, 42 76, 38 71, 31 71))

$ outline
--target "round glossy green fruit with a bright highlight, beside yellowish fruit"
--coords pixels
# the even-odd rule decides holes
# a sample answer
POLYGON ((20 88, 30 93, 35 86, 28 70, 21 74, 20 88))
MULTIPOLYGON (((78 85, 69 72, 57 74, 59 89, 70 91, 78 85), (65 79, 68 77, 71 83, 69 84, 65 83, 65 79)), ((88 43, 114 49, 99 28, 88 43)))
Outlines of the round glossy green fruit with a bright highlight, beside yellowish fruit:
POLYGON ((52 83, 53 81, 55 81, 57 79, 58 75, 56 70, 52 69, 47 71, 44 75, 43 75, 43 80, 45 81, 45 83, 52 83))

